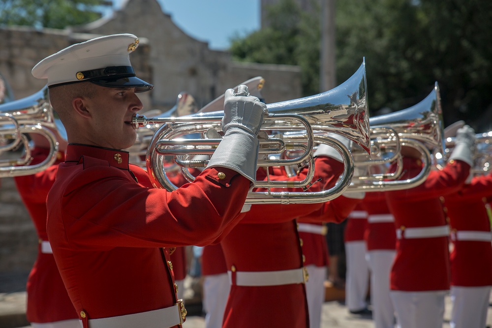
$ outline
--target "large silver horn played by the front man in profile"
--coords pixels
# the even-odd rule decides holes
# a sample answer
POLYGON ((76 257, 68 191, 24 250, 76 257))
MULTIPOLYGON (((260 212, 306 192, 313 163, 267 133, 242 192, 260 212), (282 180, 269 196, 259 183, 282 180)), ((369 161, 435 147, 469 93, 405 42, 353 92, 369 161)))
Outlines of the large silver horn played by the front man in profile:
MULTIPOLYGON (((257 187, 307 189, 314 174, 312 149, 315 143, 326 143, 338 150, 343 158, 345 170, 336 186, 320 192, 250 192, 246 204, 266 203, 320 203, 338 197, 350 184, 353 176, 353 159, 350 151, 338 140, 325 136, 333 132, 351 139, 363 149, 369 151, 369 111, 366 95, 365 62, 347 81, 335 89, 300 99, 267 104, 261 130, 300 131, 290 139, 268 138, 260 140, 260 154, 267 159, 259 159, 258 166, 308 165, 307 179, 304 181, 256 181, 257 187), (293 159, 270 159, 269 154, 279 154, 286 150, 302 150, 302 154, 293 159)), ((163 124, 154 134, 147 152, 147 170, 155 187, 175 190, 177 187, 168 179, 163 165, 165 155, 175 158, 181 155, 211 155, 221 139, 183 139, 186 134, 201 133, 207 130, 222 131, 223 111, 197 113, 179 118, 146 118, 135 115, 135 128, 149 124, 163 124)), ((205 167, 207 160, 189 161, 189 166, 205 167)), ((192 177, 187 177, 192 179, 192 177)))

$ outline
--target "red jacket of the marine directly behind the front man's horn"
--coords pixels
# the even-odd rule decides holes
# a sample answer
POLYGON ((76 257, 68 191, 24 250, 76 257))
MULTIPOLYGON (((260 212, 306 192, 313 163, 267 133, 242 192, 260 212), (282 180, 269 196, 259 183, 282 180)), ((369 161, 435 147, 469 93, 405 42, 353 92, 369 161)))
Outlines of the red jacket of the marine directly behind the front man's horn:
MULTIPOLYGON (((343 165, 318 157, 309 189, 331 187, 343 165)), ((299 180, 304 178, 304 172, 299 180)), ((262 179, 257 175, 257 179, 262 179)), ((271 179, 286 179, 272 176, 271 179)), ((261 190, 263 191, 263 190, 261 190)), ((252 205, 244 219, 221 242, 227 268, 231 271, 280 271, 303 267, 303 255, 295 218, 320 209, 322 204, 252 205), (234 269, 233 269, 234 268, 234 269)), ((238 286, 232 273, 223 328, 289 327, 307 328, 306 288, 303 283, 276 286, 238 286)))

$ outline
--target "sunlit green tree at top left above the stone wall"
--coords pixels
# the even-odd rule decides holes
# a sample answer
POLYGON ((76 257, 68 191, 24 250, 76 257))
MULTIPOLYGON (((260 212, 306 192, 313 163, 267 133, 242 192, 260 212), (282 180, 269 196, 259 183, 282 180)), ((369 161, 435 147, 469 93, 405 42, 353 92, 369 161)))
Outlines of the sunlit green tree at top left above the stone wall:
POLYGON ((1 0, 0 26, 64 29, 97 20, 105 0, 1 0))

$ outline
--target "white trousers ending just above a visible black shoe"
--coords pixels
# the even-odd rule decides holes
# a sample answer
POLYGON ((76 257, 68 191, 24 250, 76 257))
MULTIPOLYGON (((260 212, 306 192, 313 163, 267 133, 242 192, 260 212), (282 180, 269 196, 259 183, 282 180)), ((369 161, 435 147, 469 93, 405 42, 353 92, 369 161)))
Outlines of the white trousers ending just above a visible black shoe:
POLYGON ((369 289, 369 266, 364 240, 346 242, 345 257, 345 305, 350 311, 365 309, 368 305, 366 297, 369 289))

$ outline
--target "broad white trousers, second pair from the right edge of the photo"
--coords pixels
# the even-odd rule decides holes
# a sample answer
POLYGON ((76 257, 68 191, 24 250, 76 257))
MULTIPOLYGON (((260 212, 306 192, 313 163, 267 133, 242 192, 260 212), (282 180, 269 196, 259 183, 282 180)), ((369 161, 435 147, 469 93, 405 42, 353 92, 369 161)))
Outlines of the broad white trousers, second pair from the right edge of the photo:
POLYGON ((446 291, 390 291, 398 328, 442 328, 446 291))

